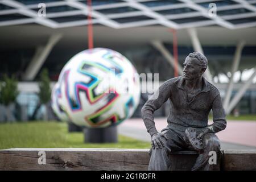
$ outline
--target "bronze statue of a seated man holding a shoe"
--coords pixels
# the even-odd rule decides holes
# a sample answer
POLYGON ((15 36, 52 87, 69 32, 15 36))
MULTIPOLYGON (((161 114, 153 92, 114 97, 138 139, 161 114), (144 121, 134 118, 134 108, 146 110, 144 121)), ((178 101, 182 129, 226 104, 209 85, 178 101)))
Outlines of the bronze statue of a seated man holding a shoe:
MULTIPOLYGON (((198 151, 192 170, 213 170, 211 151, 220 158, 220 140, 215 133, 226 127, 220 92, 203 77, 208 60, 200 52, 189 53, 183 64, 183 76, 165 81, 142 107, 142 119, 151 135, 152 148, 148 170, 168 170, 171 151, 198 151), (155 128, 154 111, 170 100, 168 126, 160 133, 155 128), (208 115, 213 112, 213 124, 208 115), (187 131, 186 131, 187 130, 187 131)), ((217 159, 218 161, 218 159, 217 159)))

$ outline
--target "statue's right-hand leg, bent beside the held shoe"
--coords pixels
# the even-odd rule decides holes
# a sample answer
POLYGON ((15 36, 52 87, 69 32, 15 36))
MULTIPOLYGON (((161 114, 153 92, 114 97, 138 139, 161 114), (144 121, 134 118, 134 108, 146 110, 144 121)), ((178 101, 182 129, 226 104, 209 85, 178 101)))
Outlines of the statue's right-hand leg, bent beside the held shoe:
POLYGON ((220 140, 213 133, 208 133, 204 136, 204 149, 200 152, 196 159, 192 171, 203 170, 212 171, 218 169, 220 166, 220 140), (218 164, 218 165, 216 165, 218 164))

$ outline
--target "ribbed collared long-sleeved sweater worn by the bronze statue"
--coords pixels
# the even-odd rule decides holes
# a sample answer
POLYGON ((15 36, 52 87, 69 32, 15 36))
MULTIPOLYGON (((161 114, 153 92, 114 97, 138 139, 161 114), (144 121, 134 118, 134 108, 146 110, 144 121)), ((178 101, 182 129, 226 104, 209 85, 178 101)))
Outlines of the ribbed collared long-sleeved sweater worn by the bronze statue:
POLYGON ((208 115, 213 111, 214 133, 226 127, 225 111, 222 107, 220 92, 203 77, 203 89, 195 97, 187 99, 187 92, 183 87, 183 76, 171 78, 163 83, 156 92, 154 99, 149 99, 142 107, 142 119, 151 135, 156 133, 154 111, 159 109, 167 100, 170 101, 168 126, 172 123, 184 127, 208 126, 208 115))

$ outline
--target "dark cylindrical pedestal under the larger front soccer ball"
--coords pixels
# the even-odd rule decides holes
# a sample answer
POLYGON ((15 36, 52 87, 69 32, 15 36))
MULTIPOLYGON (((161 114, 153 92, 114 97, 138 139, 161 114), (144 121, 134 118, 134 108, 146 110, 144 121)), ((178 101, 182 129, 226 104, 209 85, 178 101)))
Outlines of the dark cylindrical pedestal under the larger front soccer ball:
POLYGON ((84 129, 85 143, 117 143, 117 126, 99 129, 84 129))

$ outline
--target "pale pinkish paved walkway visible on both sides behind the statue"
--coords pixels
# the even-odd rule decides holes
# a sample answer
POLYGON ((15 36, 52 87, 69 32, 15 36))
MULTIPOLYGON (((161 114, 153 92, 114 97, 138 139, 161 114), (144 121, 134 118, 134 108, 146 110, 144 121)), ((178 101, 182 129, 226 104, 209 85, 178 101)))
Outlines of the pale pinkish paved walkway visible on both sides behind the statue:
MULTIPOLYGON (((166 118, 155 118, 158 131, 167 126, 166 118)), ((143 141, 150 141, 151 137, 141 118, 128 119, 118 126, 119 134, 143 141)), ((221 148, 227 149, 256 149, 255 121, 228 121, 224 131, 217 133, 221 140, 221 148)))

